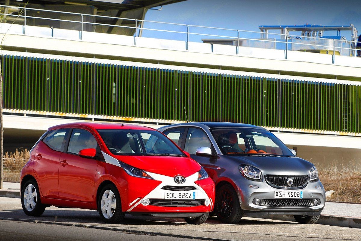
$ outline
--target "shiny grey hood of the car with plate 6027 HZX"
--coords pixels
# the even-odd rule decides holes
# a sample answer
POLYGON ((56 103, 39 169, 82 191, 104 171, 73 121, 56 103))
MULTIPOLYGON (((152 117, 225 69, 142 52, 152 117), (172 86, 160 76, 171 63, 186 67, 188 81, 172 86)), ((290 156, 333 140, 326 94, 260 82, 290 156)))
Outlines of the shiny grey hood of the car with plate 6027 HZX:
POLYGON ((239 164, 248 164, 265 175, 309 175, 313 164, 298 157, 229 156, 239 164))

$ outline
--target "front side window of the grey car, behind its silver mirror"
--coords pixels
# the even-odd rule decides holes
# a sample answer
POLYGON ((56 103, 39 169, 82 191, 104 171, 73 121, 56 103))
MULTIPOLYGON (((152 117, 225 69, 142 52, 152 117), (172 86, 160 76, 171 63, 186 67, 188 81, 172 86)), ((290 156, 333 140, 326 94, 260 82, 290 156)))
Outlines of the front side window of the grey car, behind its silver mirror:
POLYGON ((184 151, 187 151, 189 154, 196 154, 196 151, 199 147, 210 147, 210 146, 211 143, 204 130, 201 130, 199 128, 188 129, 184 151))

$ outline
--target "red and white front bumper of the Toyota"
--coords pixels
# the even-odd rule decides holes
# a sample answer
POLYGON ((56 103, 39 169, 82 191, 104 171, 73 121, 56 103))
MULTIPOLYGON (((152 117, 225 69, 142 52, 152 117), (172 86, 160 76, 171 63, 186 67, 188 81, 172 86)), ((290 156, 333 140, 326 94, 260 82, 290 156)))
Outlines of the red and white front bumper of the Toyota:
POLYGON ((127 180, 118 180, 122 199, 122 209, 132 215, 150 214, 153 216, 200 216, 205 212, 213 211, 215 188, 211 178, 197 180, 198 172, 186 178, 183 184, 176 184, 173 177, 148 172, 155 180, 139 177, 127 177, 127 180), (141 181, 141 182, 140 182, 141 181), (192 190, 182 191, 195 193, 195 199, 165 199, 165 193, 175 192, 163 189, 166 186, 192 186, 192 190), (149 200, 149 205, 143 205, 143 199, 149 200), (209 204, 206 204, 206 201, 209 204))

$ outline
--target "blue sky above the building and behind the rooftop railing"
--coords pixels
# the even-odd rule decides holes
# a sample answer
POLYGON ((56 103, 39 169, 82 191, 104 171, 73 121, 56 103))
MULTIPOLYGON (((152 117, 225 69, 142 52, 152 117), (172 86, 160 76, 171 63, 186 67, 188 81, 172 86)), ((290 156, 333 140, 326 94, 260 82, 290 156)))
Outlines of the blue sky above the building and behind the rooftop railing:
MULTIPOLYGON (((358 34, 361 34, 361 1, 187 0, 181 3, 165 5, 161 11, 148 10, 145 20, 249 31, 259 31, 259 25, 304 25, 308 23, 348 26, 352 23, 358 29, 358 34)), ((173 31, 187 30, 185 26, 165 26, 154 23, 146 23, 144 27, 173 31)), ((195 27, 191 27, 190 31, 236 37, 234 31, 206 30, 195 27)), ((325 35, 336 35, 336 32, 325 35)), ((347 39, 351 39, 351 31, 345 31, 342 35, 347 39)), ((143 36, 186 40, 186 34, 149 30, 144 30, 143 36)), ((241 33, 240 37, 260 38, 260 34, 241 33)), ((201 38, 214 37, 191 35, 190 40, 200 42, 201 38)))

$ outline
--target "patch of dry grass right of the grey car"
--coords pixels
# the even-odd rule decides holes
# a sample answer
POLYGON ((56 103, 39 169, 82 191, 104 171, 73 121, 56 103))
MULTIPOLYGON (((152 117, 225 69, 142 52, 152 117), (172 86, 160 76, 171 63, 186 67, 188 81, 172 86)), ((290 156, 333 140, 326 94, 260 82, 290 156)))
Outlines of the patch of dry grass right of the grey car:
POLYGON ((335 193, 327 201, 361 203, 361 169, 355 163, 317 167, 326 191, 335 193))

